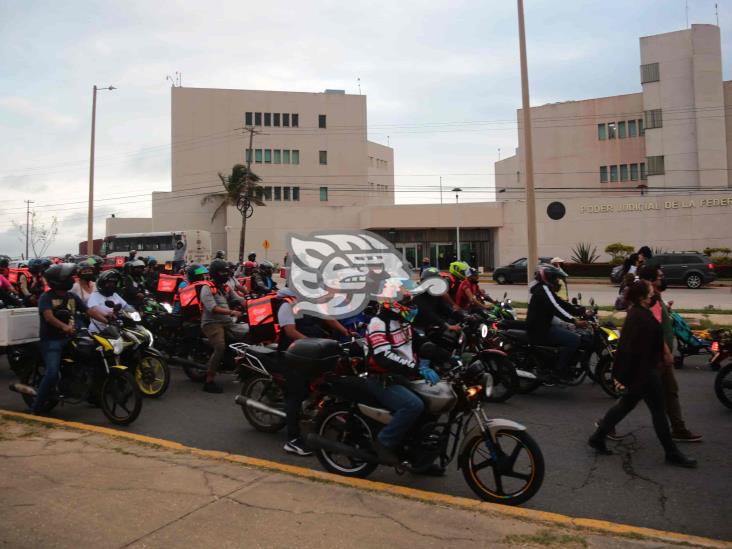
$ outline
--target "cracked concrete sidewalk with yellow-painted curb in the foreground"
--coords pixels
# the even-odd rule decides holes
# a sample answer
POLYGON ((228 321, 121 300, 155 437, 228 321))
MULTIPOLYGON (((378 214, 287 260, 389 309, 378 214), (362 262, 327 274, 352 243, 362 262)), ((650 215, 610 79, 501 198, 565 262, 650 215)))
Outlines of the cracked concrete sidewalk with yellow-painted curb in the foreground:
POLYGON ((625 535, 399 498, 101 431, 0 416, 1 546, 666 546, 620 526, 625 535))

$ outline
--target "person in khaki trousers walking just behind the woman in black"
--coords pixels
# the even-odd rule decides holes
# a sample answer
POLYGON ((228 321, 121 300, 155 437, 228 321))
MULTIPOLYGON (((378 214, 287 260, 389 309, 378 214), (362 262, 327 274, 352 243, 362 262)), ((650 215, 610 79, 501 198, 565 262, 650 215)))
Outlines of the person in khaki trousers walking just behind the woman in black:
POLYGON ((653 286, 651 297, 651 312, 656 321, 661 325, 663 332, 663 357, 660 363, 661 382, 666 401, 666 415, 671 422, 671 438, 674 442, 701 442, 702 436, 692 433, 687 429, 684 418, 681 415, 681 403, 679 402, 679 384, 674 374, 674 329, 671 322, 669 305, 664 302, 662 293, 666 290, 666 279, 663 271, 655 265, 644 265, 638 271, 641 280, 646 280, 653 286))

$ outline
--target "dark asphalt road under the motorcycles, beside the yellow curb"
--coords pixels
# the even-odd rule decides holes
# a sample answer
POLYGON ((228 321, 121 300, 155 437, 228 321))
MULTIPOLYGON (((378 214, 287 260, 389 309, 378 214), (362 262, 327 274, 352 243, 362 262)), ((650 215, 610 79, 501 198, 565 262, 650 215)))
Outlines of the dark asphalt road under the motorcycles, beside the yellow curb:
MULTIPOLYGON (((586 439, 595 418, 612 401, 589 383, 565 389, 541 388, 532 395, 489 406, 489 415, 525 424, 544 453, 544 484, 525 506, 731 540, 732 411, 714 397, 714 373, 704 359, 689 359, 687 368, 677 373, 687 423, 705 437, 703 443, 683 446, 699 460, 696 470, 664 464, 650 416, 642 405, 619 426, 619 432, 630 435, 622 443, 610 443, 617 454, 596 456, 586 439)), ((7 387, 12 379, 3 358, 0 386, 7 387)), ((226 392, 211 395, 174 369, 168 393, 159 400, 145 400, 140 418, 129 430, 198 448, 320 469, 315 458, 285 454, 283 433, 267 435, 251 428, 233 402, 239 385, 232 377, 222 377, 222 381, 226 392)), ((0 408, 22 411, 24 406, 19 395, 2 390, 0 408)), ((63 419, 108 426, 99 410, 87 406, 61 407, 53 413, 63 419)), ((474 497, 453 467, 441 478, 398 476, 386 468, 371 478, 474 497)))

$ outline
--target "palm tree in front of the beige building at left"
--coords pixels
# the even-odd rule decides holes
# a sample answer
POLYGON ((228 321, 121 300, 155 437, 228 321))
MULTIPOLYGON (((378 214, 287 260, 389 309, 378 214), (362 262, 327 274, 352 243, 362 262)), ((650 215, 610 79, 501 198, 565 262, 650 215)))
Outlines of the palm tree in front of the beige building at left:
POLYGON ((224 174, 219 172, 219 179, 224 186, 224 191, 206 195, 201 200, 201 204, 208 204, 217 200, 221 201, 211 216, 212 222, 227 206, 235 206, 242 213, 241 233, 239 233, 239 263, 241 263, 244 261, 244 239, 247 231, 247 217, 253 213, 253 210, 247 212, 241 206, 244 200, 248 200, 250 204, 265 206, 265 203, 262 202, 264 188, 259 185, 262 179, 243 164, 235 164, 231 169, 231 175, 224 176, 224 174))

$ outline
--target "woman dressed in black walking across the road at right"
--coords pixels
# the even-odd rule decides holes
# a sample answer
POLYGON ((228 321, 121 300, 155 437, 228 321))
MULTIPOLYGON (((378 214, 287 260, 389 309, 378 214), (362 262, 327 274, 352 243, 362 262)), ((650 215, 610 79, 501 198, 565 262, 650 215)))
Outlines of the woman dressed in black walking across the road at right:
POLYGON ((656 436, 666 451, 666 462, 681 467, 696 467, 696 460, 682 454, 671 439, 660 373, 663 334, 661 324, 649 310, 652 293, 650 283, 645 280, 633 283, 628 289, 628 300, 632 307, 623 324, 613 365, 615 379, 625 385, 627 391, 598 422, 589 444, 601 454, 612 454, 605 445, 605 437, 644 400, 651 411, 656 436))

